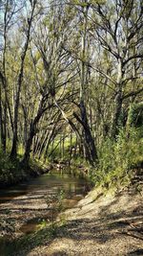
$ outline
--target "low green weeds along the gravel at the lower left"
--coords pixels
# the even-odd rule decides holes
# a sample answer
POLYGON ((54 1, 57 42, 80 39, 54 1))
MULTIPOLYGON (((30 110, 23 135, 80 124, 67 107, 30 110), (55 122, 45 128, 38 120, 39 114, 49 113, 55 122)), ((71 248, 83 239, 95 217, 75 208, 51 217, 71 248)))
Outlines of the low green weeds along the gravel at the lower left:
MULTIPOLYGON (((15 255, 15 251, 17 255, 21 255, 22 250, 31 250, 32 247, 45 244, 47 241, 50 241, 52 237, 55 237, 57 234, 57 230, 64 227, 66 224, 66 217, 65 215, 61 215, 59 217, 59 220, 56 221, 57 214, 59 214, 61 211, 63 211, 63 199, 65 198, 65 191, 59 190, 57 191, 57 194, 55 194, 54 198, 46 198, 48 206, 51 206, 51 203, 53 203, 53 207, 51 208, 51 221, 42 220, 38 225, 35 232, 24 235, 20 237, 19 239, 6 239, 0 238, 0 246, 2 248, 2 251, 6 253, 5 255, 15 255), (19 254, 18 254, 19 253, 19 254)), ((10 223, 6 223, 3 221, 3 225, 0 225, 0 228, 7 228, 10 232, 10 229, 13 231, 12 228, 14 224, 12 220, 10 220, 10 223), (12 223, 12 225, 11 225, 12 223), (9 225, 8 225, 9 224, 9 225), (7 225, 7 226, 6 226, 7 225), (1 227, 2 226, 2 227, 1 227)))

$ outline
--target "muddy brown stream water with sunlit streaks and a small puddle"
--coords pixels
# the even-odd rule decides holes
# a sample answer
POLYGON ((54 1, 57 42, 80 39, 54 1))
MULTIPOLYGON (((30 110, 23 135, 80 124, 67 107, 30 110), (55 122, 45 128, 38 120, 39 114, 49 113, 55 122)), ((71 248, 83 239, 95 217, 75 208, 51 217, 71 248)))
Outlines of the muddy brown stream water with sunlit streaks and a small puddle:
POLYGON ((56 217, 55 208, 60 200, 63 209, 72 208, 91 187, 83 177, 52 172, 29 183, 0 190, 0 211, 9 211, 13 217, 16 213, 17 220, 25 213, 28 218, 19 224, 19 230, 28 234, 35 231, 41 221, 51 221, 56 217))

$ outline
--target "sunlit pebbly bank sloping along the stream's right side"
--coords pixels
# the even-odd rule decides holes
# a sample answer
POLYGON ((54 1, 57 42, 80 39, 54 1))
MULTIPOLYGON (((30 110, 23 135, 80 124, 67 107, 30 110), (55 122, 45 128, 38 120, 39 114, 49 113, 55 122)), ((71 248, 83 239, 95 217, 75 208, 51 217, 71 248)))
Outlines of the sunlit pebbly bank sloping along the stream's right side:
MULTIPOLYGON (((27 199, 27 208, 31 208, 30 198, 27 199)), ((39 213, 43 207, 44 215, 47 206, 40 195, 39 198, 31 198, 31 201, 38 205, 39 213)), ((23 208, 23 205, 19 206, 23 208)), ((20 218, 25 222, 24 215, 27 216, 22 210, 20 218)), ((30 236, 29 243, 22 246, 19 252, 6 256, 143 255, 143 186, 140 185, 139 192, 130 187, 115 195, 103 192, 101 188, 94 189, 72 209, 61 213, 57 223, 60 224, 54 225, 51 236, 47 235, 48 228, 43 227, 30 236)))

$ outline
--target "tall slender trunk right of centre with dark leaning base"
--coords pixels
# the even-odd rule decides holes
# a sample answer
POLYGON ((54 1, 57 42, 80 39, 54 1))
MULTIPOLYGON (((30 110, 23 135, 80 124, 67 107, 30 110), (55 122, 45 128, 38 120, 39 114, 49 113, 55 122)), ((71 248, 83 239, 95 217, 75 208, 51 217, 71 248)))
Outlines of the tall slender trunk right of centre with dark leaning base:
POLYGON ((89 12, 89 3, 88 0, 85 0, 85 7, 83 7, 83 35, 81 38, 81 82, 80 82, 80 118, 75 114, 75 117, 78 122, 82 125, 83 128, 83 144, 84 151, 86 154, 86 159, 90 161, 91 164, 97 160, 97 152, 92 138, 92 132, 89 125, 86 109, 86 91, 85 87, 88 84, 88 70, 85 60, 88 58, 88 12, 89 12))

